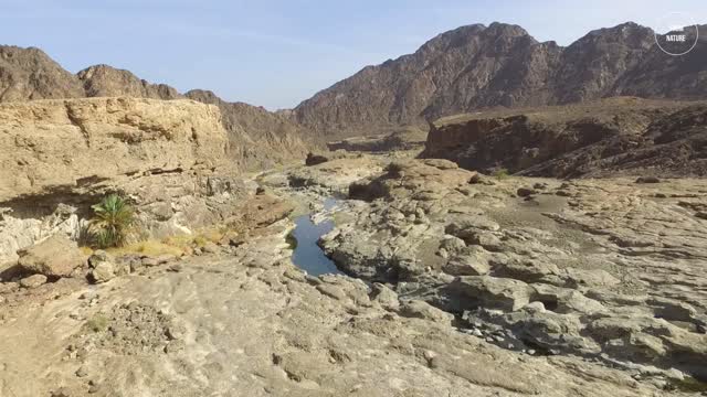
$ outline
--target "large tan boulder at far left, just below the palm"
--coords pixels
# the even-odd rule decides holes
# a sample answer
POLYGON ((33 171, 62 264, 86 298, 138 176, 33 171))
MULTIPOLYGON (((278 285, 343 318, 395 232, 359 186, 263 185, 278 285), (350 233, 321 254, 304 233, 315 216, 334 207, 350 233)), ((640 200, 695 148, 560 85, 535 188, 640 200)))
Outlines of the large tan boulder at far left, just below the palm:
POLYGON ((18 251, 18 265, 23 270, 48 277, 68 277, 75 268, 86 262, 76 243, 63 235, 54 235, 18 251))

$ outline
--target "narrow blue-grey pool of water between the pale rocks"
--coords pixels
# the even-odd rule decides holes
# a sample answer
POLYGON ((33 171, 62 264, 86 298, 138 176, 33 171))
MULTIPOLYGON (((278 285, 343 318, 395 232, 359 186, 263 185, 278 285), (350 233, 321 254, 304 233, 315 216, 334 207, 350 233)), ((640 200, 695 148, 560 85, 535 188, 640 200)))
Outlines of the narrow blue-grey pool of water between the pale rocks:
MULTIPOLYGON (((324 202, 324 210, 331 210, 336 205, 336 200, 327 198, 324 202)), ((292 261, 298 268, 306 270, 312 276, 319 275, 340 275, 336 265, 331 259, 324 255, 324 251, 317 245, 319 237, 334 229, 334 221, 327 219, 315 224, 312 222, 310 214, 302 215, 295 218, 295 229, 292 236, 297 242, 297 246, 292 255, 292 261)))

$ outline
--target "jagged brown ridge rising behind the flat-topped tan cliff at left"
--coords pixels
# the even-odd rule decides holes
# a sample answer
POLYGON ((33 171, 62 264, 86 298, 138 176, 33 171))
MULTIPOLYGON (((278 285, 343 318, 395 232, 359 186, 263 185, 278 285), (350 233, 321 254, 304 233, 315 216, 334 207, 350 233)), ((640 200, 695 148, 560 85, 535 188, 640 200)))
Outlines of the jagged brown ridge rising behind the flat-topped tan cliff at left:
POLYGON ((291 118, 262 107, 228 103, 205 90, 182 95, 169 85, 151 84, 108 65, 91 66, 73 75, 41 50, 0 46, 0 103, 83 97, 188 98, 217 105, 229 132, 232 158, 245 169, 302 159, 310 146, 303 141, 302 128, 291 118))

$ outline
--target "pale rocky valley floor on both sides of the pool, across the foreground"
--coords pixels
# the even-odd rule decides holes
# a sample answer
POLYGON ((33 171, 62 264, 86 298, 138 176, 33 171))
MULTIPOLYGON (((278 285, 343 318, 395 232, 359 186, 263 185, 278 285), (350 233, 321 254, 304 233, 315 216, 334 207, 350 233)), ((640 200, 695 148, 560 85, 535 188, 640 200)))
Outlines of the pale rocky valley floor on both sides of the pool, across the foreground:
MULTIPOLYGON (((96 251, 73 278, 0 283, 0 390, 559 397, 701 387, 685 377, 703 376, 707 354, 700 182, 560 186, 479 179, 444 160, 387 162, 341 158, 254 180, 316 207, 358 179, 351 195, 366 201, 341 200, 321 244, 369 283, 302 272, 285 238, 292 207, 250 195, 239 210, 246 239, 181 258, 96 251), (296 174, 310 183, 282 183, 296 174), (535 191, 518 196, 528 184, 535 191), (665 191, 676 196, 658 198, 665 191), (625 201, 598 213, 609 192, 625 201), (28 383, 28 373, 42 376, 28 383)), ((45 249, 23 251, 22 266, 43 269, 34 264, 54 259, 45 249)))

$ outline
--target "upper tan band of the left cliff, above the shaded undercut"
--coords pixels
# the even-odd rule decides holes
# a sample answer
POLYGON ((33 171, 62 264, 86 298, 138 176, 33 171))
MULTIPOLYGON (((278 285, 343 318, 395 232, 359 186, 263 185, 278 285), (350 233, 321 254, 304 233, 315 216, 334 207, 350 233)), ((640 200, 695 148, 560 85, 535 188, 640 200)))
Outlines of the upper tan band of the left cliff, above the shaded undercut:
POLYGON ((1 104, 0 201, 145 172, 210 168, 228 137, 215 107, 136 98, 1 104))

